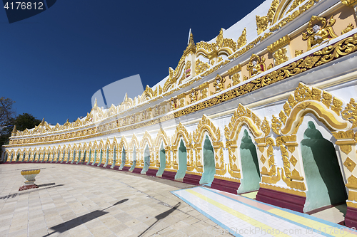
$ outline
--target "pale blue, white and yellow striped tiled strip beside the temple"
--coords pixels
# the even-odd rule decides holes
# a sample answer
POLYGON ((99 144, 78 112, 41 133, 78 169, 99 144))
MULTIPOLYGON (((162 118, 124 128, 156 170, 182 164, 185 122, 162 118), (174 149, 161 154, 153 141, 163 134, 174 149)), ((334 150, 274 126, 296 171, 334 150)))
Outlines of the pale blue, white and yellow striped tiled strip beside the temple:
POLYGON ((193 187, 172 193, 233 236, 357 236, 336 223, 223 191, 193 187))

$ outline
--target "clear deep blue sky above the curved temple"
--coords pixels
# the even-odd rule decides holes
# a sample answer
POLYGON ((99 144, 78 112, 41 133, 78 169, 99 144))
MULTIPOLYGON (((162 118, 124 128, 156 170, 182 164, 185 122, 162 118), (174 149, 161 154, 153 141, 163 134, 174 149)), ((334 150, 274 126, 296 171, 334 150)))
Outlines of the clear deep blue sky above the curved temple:
POLYGON ((140 74, 145 88, 166 77, 189 28, 195 42, 209 41, 262 2, 58 0, 11 24, 0 9, 0 97, 15 100, 17 114, 72 122, 109 83, 140 74))

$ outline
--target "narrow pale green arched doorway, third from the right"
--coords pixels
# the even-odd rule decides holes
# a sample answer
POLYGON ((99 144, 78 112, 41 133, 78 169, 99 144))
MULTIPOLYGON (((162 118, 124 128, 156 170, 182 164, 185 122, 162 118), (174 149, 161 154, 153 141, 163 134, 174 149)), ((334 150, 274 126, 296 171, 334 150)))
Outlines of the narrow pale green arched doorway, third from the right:
POLYGON ((200 184, 207 184, 211 186, 216 174, 216 167, 214 165, 214 149, 208 135, 203 144, 203 174, 200 179, 200 184))

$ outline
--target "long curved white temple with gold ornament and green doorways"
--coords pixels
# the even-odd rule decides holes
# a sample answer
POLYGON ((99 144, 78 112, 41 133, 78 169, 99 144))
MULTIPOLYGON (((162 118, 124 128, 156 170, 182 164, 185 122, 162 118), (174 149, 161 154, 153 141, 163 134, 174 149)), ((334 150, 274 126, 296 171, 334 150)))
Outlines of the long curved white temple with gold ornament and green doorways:
POLYGON ((356 7, 264 1, 211 41, 191 33, 176 68, 142 95, 64 125, 14 127, 1 158, 258 191, 300 212, 346 203, 357 227, 356 7))

